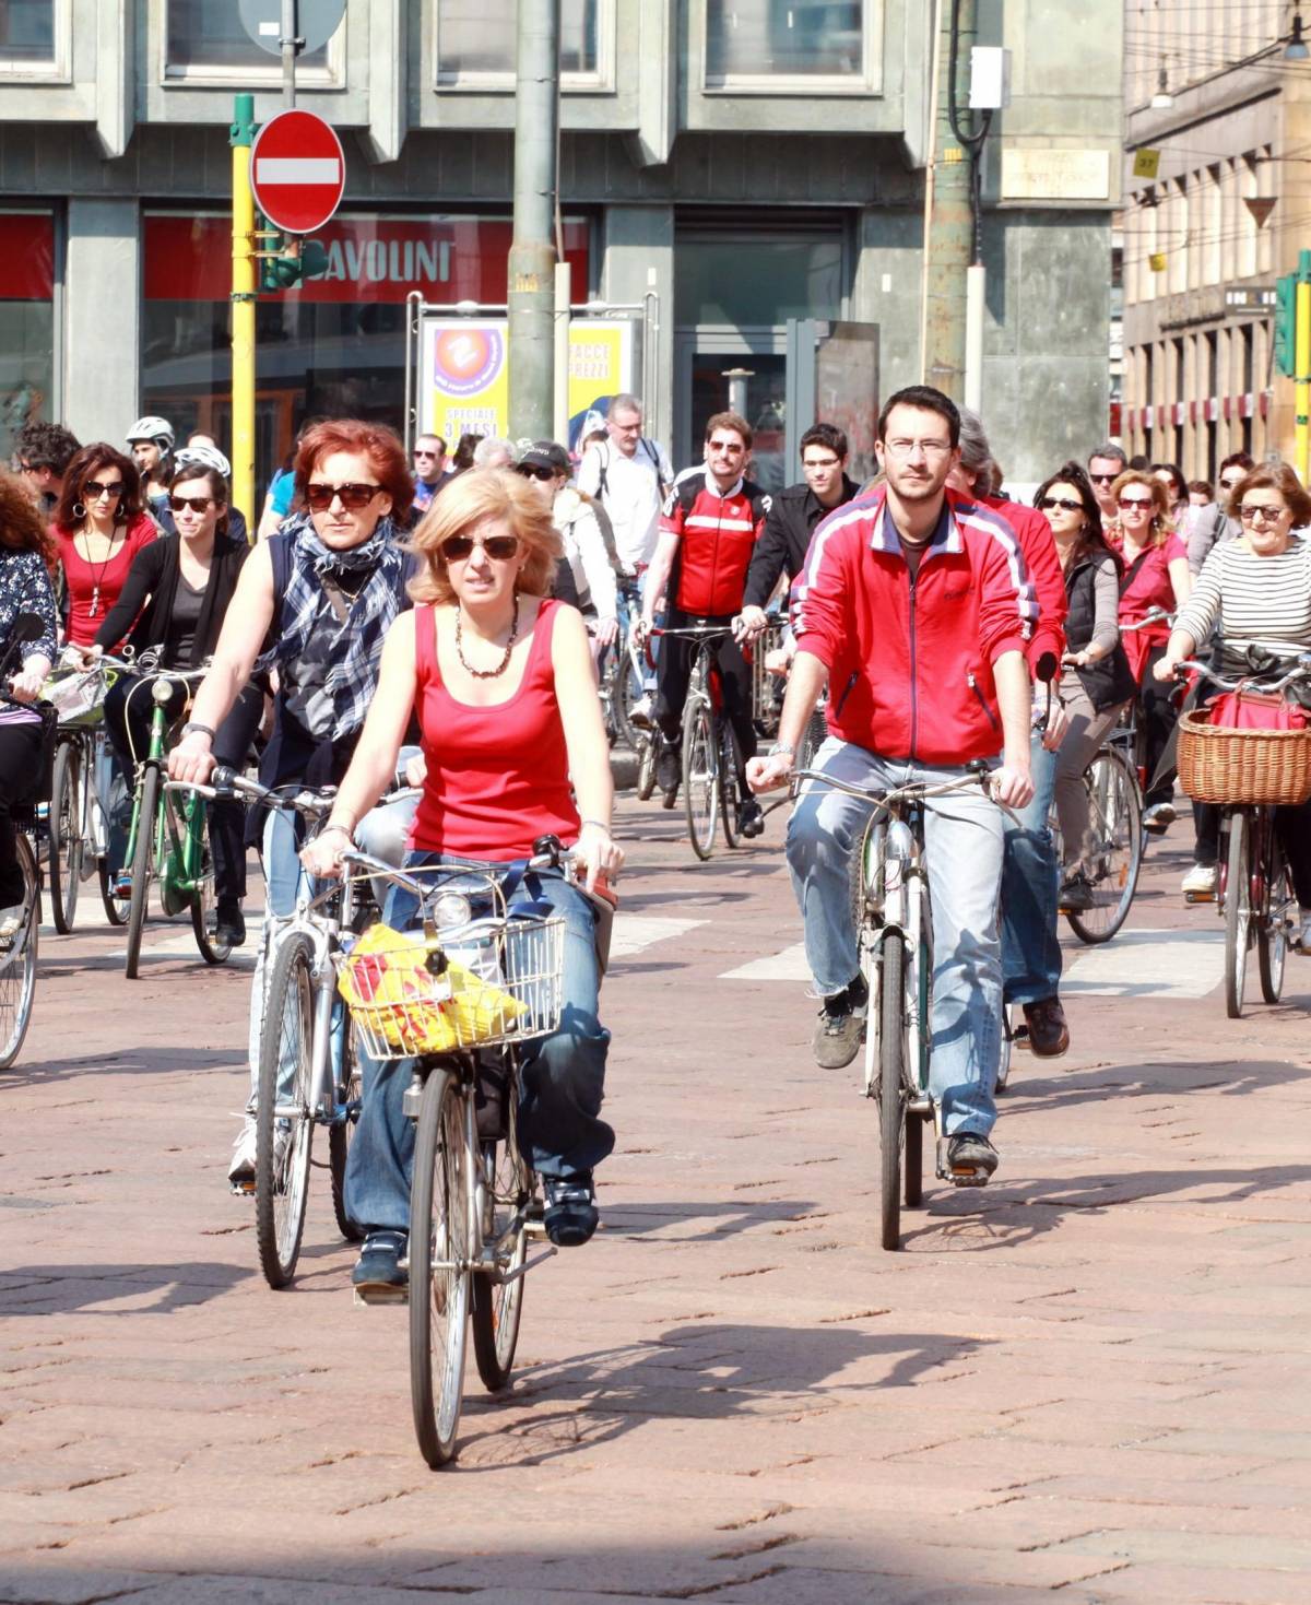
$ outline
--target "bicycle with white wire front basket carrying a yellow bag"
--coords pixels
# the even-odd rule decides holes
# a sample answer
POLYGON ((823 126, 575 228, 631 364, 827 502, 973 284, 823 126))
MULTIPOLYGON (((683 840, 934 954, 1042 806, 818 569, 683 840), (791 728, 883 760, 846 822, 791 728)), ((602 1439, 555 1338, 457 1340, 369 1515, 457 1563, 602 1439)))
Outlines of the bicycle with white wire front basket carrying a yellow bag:
MULTIPOLYGON (((557 868, 560 857, 560 843, 541 838, 528 868, 557 868)), ((517 1109, 520 1050, 560 1021, 565 921, 512 912, 493 872, 441 867, 422 880, 359 852, 342 862, 408 889, 424 913, 422 934, 387 953, 403 992, 390 993, 377 958, 356 952, 348 1000, 374 1058, 416 1061, 404 1095, 416 1136, 409 1294, 401 1297, 409 1302, 414 1432, 424 1459, 438 1469, 456 1453, 469 1332, 485 1387, 504 1390, 523 1278, 557 1252, 552 1244, 528 1254, 530 1241, 544 1237, 544 1205, 518 1148, 517 1109), (472 920, 475 910, 489 913, 472 920), (480 1136, 477 1088, 489 1066, 501 1080, 502 1124, 496 1136, 480 1136)), ((602 910, 603 969, 613 910, 584 896, 602 910)))

